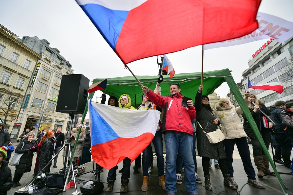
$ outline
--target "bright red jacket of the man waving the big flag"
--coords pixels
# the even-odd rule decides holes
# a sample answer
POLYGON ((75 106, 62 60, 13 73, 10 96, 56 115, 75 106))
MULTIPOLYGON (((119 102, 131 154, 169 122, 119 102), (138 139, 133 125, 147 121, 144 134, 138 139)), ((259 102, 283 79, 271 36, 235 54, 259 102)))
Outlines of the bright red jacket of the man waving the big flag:
POLYGON ((196 116, 195 108, 186 108, 181 105, 182 94, 175 96, 159 96, 152 90, 149 90, 147 97, 155 104, 163 108, 163 126, 164 131, 180 131, 193 135, 191 120, 196 116))

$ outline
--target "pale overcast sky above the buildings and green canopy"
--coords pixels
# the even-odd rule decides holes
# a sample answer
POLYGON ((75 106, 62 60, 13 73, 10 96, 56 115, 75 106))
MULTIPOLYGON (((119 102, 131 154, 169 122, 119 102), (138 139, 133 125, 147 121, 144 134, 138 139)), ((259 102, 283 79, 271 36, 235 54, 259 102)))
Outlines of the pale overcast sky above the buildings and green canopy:
MULTIPOLYGON (((0 24, 20 38, 28 35, 48 40, 50 47, 60 50, 60 54, 72 64, 75 74, 83 74, 90 81, 94 78, 131 75, 74 0, 0 0, 0 7, 0 24)), ((293 21, 292 7, 292 0, 263 0, 259 11, 293 21)), ((163 27, 162 22, 158 28, 163 31, 163 27)), ((242 72, 248 68, 251 55, 264 42, 265 40, 259 40, 205 50, 204 71, 229 68, 238 83, 242 79, 242 72)), ((176 73, 201 71, 201 46, 167 56, 176 73)), ((150 57, 132 62, 128 66, 135 75, 157 75, 156 60, 156 57, 150 57)), ((226 83, 216 89, 221 97, 225 97, 228 92, 226 83)), ((101 96, 101 93, 96 93, 94 100, 96 96, 101 96)), ((99 98, 97 100, 100 101, 99 98)))

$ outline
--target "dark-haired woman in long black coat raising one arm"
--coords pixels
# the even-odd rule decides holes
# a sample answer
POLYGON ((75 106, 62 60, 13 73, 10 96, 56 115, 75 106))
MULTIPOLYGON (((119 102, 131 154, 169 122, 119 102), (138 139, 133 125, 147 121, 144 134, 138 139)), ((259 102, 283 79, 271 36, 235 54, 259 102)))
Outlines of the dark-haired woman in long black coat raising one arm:
MULTIPOLYGON (((195 110, 197 122, 202 126, 202 128, 208 133, 216 131, 218 129, 217 124, 219 121, 215 118, 212 113, 212 108, 209 105, 208 96, 202 96, 203 86, 198 87, 198 92, 195 96, 195 110)), ((212 190, 210 175, 209 175, 209 161, 210 159, 217 159, 219 166, 224 176, 224 185, 228 186, 230 189, 237 190, 235 185, 233 185, 228 173, 227 164, 225 161, 226 153, 224 150, 223 141, 218 143, 210 143, 206 134, 204 134, 202 129, 197 124, 197 150, 198 155, 203 157, 203 173, 205 177, 205 187, 208 190, 212 190)))

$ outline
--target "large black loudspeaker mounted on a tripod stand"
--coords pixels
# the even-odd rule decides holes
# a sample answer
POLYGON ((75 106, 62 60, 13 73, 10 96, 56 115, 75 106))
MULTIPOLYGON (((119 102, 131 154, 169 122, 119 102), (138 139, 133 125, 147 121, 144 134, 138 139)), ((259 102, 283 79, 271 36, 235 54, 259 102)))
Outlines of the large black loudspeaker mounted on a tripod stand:
POLYGON ((84 75, 63 75, 58 95, 56 112, 83 114, 87 104, 90 80, 84 75))

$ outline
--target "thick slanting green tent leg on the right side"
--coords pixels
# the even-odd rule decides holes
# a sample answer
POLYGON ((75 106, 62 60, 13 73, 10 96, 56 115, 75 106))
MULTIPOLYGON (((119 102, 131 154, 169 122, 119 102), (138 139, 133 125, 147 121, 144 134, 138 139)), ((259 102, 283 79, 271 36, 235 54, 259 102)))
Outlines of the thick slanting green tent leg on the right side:
POLYGON ((262 149, 265 152, 265 155, 268 157, 268 160, 270 161, 270 164, 273 167, 274 172, 275 172, 275 174, 276 174, 276 176, 277 176, 277 178, 279 180, 279 183, 280 183, 280 185, 282 187, 283 193, 285 195, 288 195, 288 193, 286 191, 286 188, 285 188, 285 185, 283 184, 283 181, 282 181, 282 179, 280 177, 280 174, 278 173, 278 171, 277 171, 277 169, 276 169, 276 167, 274 165, 274 161, 272 160, 271 155, 268 152, 267 147, 265 146, 265 142, 262 139, 261 134, 259 133, 259 130, 258 130, 257 126, 256 126, 256 123, 253 120, 253 117, 252 117, 249 109, 247 108, 247 105, 245 104, 244 99, 243 99, 243 97, 242 97, 242 95, 241 95, 241 93, 240 93, 240 91, 239 91, 239 89, 238 89, 233 77, 232 76, 225 77, 225 81, 227 82, 227 84, 229 85, 230 89, 232 90, 232 93, 235 96, 235 99, 237 100, 239 106, 241 107, 242 111, 244 112, 245 116, 247 117, 247 120, 248 120, 251 128, 253 129, 254 134, 256 135, 257 139, 259 140, 259 143, 261 144, 262 149))

